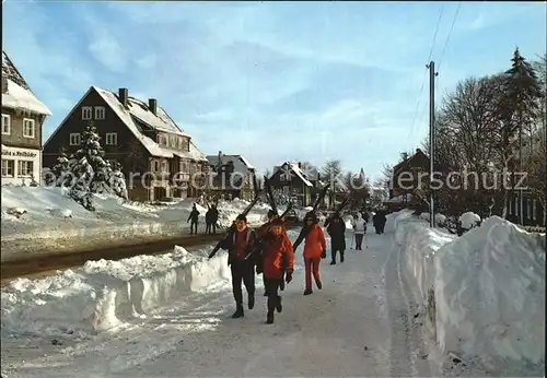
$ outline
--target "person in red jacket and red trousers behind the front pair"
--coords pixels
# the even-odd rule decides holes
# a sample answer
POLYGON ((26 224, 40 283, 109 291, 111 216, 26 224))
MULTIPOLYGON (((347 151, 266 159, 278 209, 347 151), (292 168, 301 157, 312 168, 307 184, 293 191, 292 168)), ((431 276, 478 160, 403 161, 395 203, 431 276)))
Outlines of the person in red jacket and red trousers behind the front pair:
POLYGON ((304 295, 310 295, 313 293, 312 290, 312 273, 315 279, 315 284, 318 290, 322 290, 323 283, 319 277, 319 262, 324 259, 327 250, 327 243, 325 240, 325 234, 323 228, 317 224, 317 215, 313 212, 309 212, 304 217, 305 226, 302 228, 296 241, 292 246, 293 250, 296 250, 298 246, 305 238, 304 244, 304 267, 306 276, 306 290, 304 295))

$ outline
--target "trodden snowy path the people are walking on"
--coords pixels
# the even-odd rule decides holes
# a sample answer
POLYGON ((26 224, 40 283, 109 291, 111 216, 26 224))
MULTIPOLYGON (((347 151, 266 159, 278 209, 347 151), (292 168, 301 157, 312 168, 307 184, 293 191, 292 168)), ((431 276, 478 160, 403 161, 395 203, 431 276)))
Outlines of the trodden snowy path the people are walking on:
POLYGON ((311 296, 302 295, 299 249, 283 311, 271 326, 264 323, 261 276, 257 305, 243 319, 229 318, 234 303, 224 280, 114 333, 2 338, 2 370, 8 377, 430 376, 421 316, 415 318, 399 280, 393 234, 368 237, 369 248, 348 250, 344 263, 323 260, 324 287, 311 296))

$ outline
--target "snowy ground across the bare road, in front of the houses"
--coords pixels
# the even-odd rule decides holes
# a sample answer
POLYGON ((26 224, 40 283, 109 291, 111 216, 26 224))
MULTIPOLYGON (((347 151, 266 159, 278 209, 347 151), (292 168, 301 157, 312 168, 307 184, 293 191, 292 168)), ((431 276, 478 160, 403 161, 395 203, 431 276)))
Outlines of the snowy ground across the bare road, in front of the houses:
MULTIPOLYGON (((96 211, 90 212, 62 188, 3 186, 2 260, 21 253, 100 248, 188 233, 193 200, 151 205, 124 202, 112 196, 94 197, 96 211)), ((246 205, 238 200, 220 202, 219 224, 230 225, 246 205)), ((268 209, 265 204, 255 205, 247 216, 249 223, 264 221, 268 209)), ((198 211, 199 229, 203 232, 207 209, 198 205, 198 211)))

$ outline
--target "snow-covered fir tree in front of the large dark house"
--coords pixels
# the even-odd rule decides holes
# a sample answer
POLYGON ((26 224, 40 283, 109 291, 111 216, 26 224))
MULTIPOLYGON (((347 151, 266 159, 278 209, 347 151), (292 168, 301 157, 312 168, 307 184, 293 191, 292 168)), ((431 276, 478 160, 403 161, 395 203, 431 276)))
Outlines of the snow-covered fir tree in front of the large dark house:
POLYGON ((89 122, 82 132, 82 147, 70 157, 60 151, 51 168, 56 186, 69 187, 69 196, 90 211, 95 210, 93 193, 114 193, 128 199, 121 165, 105 160, 100 140, 93 122, 89 122))

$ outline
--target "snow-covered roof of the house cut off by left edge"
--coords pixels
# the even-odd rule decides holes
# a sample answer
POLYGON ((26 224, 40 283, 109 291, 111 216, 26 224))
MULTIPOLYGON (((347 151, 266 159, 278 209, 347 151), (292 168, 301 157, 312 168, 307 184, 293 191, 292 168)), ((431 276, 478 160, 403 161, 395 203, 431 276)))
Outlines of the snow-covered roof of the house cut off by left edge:
POLYGON ((51 111, 36 98, 4 51, 2 51, 2 80, 7 83, 5 93, 2 91, 2 106, 51 116, 51 111))

